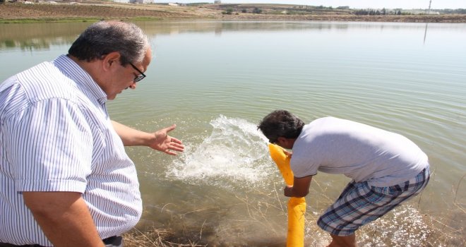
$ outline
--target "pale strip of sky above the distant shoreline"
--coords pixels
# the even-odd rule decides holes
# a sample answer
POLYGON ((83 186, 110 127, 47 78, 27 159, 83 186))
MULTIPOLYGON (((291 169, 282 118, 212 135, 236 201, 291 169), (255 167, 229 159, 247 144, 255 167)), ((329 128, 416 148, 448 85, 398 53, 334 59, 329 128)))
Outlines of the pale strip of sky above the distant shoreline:
MULTIPOLYGON (((159 0, 155 0, 156 2, 159 0)), ((212 2, 213 0, 172 0, 177 3, 212 2)), ((466 0, 221 0, 222 4, 302 4, 309 6, 349 6, 349 8, 466 8, 466 0)))

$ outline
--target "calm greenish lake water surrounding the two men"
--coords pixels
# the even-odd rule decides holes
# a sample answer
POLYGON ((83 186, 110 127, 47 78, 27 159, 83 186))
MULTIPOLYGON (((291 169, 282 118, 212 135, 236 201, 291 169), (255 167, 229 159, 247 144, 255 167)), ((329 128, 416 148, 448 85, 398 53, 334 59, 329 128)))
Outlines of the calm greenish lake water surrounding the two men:
MULTIPOLYGON (((90 23, 0 24, 0 81, 66 54, 90 23)), ((284 246, 287 198, 257 123, 273 109, 336 116, 417 143, 433 175, 422 195, 363 227, 362 246, 461 246, 466 220, 466 25, 338 22, 138 22, 155 59, 108 104, 144 131, 177 123, 186 151, 129 147, 144 200, 138 229, 172 241, 284 246)), ((318 174, 306 246, 348 179, 318 174)))

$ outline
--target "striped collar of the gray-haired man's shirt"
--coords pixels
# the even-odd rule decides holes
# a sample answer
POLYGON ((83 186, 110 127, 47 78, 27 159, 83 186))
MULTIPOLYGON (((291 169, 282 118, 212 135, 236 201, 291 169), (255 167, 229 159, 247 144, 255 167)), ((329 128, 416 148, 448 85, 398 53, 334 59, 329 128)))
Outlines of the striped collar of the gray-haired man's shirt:
POLYGON ((85 94, 94 97, 100 104, 107 102, 107 94, 92 79, 88 72, 83 70, 75 61, 66 55, 61 55, 52 61, 59 70, 76 84, 85 89, 85 94))

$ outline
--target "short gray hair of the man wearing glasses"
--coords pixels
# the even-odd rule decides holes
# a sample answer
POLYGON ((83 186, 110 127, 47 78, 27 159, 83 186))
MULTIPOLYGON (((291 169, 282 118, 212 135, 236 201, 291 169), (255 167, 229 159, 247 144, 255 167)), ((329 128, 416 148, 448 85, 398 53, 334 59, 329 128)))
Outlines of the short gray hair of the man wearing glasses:
POLYGON ((68 54, 79 60, 102 59, 110 52, 119 52, 121 65, 140 64, 149 49, 148 37, 133 23, 100 21, 90 25, 71 44, 68 54))

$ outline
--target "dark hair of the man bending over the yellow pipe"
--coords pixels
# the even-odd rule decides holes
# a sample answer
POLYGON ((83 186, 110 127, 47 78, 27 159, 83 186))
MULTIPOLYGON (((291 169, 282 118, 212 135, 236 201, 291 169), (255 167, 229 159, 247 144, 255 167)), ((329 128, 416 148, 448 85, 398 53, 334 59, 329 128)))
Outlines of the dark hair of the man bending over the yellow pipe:
POLYGON ((276 143, 279 137, 298 138, 303 127, 301 119, 285 110, 271 112, 257 126, 270 143, 276 143))

